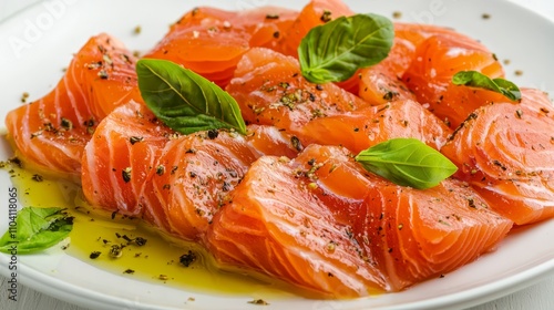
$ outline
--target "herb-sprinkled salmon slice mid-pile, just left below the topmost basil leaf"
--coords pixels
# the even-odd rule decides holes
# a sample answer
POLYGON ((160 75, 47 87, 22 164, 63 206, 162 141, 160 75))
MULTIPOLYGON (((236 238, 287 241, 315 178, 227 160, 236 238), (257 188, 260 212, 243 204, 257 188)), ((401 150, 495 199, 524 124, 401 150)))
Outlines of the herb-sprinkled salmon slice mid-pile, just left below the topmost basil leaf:
POLYGON ((295 58, 264 48, 245 53, 226 91, 237 101, 246 122, 293 134, 311 120, 369 105, 336 84, 308 82, 295 58))

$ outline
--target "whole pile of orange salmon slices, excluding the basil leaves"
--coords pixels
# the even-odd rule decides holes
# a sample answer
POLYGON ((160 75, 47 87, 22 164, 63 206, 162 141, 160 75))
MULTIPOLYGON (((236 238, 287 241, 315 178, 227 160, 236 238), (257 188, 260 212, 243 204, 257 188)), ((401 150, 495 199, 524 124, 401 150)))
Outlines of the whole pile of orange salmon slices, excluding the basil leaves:
POLYGON ((145 59, 213 81, 246 134, 179 133, 141 95, 137 58, 102 33, 44 97, 6 118, 18 154, 71 178, 99 208, 204 246, 219 268, 278 278, 320 298, 400 291, 494 250, 514 226, 554 217, 554 106, 458 85, 460 71, 503 78, 482 43, 451 29, 394 23, 388 56, 343 82, 302 76, 298 45, 353 16, 340 0, 301 10, 199 7, 145 59), (224 51, 224 52, 222 52, 224 51), (417 138, 458 172, 417 189, 355 157, 417 138))

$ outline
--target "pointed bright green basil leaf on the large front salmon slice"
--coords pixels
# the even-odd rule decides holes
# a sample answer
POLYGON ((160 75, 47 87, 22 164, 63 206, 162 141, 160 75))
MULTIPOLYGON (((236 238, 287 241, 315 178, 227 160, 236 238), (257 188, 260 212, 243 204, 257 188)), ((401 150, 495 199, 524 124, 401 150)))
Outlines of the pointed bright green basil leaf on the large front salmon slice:
POLYGON ((439 151, 417 138, 392 138, 356 156, 367 170, 398 185, 425 189, 437 186, 458 167, 439 151))

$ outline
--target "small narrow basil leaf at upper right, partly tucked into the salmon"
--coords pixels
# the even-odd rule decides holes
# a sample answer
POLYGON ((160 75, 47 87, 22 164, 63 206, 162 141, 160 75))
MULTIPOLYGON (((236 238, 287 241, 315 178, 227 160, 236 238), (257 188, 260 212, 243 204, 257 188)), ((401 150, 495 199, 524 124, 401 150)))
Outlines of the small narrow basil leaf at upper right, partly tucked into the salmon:
POLYGON ((478 71, 460 71, 452 76, 452 83, 501 93, 512 101, 521 99, 520 89, 514 83, 500 78, 491 79, 478 71))

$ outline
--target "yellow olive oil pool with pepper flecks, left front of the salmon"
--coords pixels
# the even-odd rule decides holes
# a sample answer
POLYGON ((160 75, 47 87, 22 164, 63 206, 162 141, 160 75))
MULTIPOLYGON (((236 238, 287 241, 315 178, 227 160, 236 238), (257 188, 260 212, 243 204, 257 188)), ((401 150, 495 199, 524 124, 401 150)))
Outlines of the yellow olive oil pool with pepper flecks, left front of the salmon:
MULTIPOLYGON (((247 297, 255 292, 256 298, 263 296, 266 300, 297 296, 299 292, 298 288, 293 289, 268 277, 244 270, 223 270, 197 244, 167 236, 138 218, 94 208, 85 202, 81 187, 72 182, 16 165, 10 165, 9 169, 13 186, 21 193, 22 206, 68 209, 74 217, 73 230, 69 242, 58 247, 95 268, 187 292, 247 297), (117 251, 114 248, 119 248, 119 254, 113 252, 117 251), (191 261, 192 254, 194 259, 191 261)), ((310 292, 302 294, 309 296, 310 292)))

